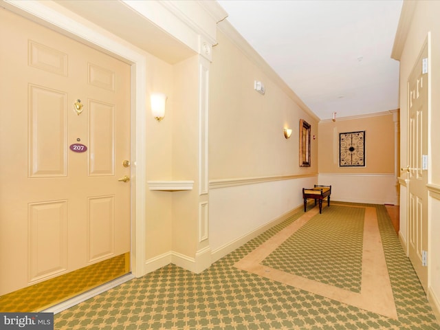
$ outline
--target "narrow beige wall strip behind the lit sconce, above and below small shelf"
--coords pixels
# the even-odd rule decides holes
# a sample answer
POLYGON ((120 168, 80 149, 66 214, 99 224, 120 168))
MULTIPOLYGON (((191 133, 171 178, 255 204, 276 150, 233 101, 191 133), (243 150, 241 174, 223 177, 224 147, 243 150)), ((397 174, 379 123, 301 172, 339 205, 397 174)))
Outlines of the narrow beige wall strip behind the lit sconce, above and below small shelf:
MULTIPOLYGON (((147 81, 146 88, 146 180, 170 180, 173 175, 173 65, 145 54, 147 81), (157 122, 150 114, 149 96, 160 92, 168 96, 165 118, 157 122)), ((170 192, 146 190, 145 256, 164 254, 172 247, 172 202, 170 192)))

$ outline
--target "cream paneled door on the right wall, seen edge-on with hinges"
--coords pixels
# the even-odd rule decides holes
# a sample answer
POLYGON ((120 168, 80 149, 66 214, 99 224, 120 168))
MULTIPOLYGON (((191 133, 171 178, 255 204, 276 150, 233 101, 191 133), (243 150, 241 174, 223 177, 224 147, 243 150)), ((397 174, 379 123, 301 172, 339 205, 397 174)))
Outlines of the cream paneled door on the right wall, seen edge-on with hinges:
POLYGON ((408 78, 408 254, 428 289, 428 45, 408 78), (423 161, 423 158, 425 160, 423 161), (426 165, 424 165, 424 163, 426 165))

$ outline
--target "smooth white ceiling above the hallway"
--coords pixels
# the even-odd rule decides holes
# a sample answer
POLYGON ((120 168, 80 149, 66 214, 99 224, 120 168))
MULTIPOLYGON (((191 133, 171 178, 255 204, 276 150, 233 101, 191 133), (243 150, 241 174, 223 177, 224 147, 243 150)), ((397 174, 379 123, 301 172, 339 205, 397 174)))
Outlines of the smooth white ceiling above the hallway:
POLYGON ((218 2, 321 120, 399 107, 399 63, 391 50, 402 0, 218 2))

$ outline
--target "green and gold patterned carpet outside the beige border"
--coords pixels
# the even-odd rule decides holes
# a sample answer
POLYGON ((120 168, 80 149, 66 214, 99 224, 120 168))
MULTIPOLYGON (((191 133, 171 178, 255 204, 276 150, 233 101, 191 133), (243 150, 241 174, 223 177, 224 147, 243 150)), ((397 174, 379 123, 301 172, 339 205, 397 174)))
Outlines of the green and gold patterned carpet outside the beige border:
MULTIPOLYGON (((417 275, 401 248, 386 208, 373 204, 344 204, 375 209, 397 318, 235 267, 236 263, 289 225, 300 221, 304 215, 301 211, 245 243, 200 274, 173 264, 167 265, 56 314, 54 329, 440 329, 417 275)), ((333 204, 323 209, 322 214, 332 208, 333 204)), ((313 208, 309 208, 307 213, 311 211, 314 211, 313 208)), ((310 236, 310 239, 311 244, 317 241, 316 236, 310 236)), ((353 242, 353 246, 356 244, 353 242)), ((272 260, 267 262, 272 264, 278 263, 276 259, 280 257, 270 258, 272 260)), ((352 262, 357 268, 359 262, 352 262)), ((345 263, 338 266, 344 270, 325 267, 326 272, 337 274, 331 282, 335 281, 334 278, 345 278, 347 272, 351 272, 347 271, 351 265, 345 263)), ((303 274, 304 271, 301 272, 303 274)), ((322 275, 307 276, 312 276, 314 281, 322 281, 322 275)), ((347 280, 341 282, 345 289, 354 289, 359 278, 353 283, 347 280)))

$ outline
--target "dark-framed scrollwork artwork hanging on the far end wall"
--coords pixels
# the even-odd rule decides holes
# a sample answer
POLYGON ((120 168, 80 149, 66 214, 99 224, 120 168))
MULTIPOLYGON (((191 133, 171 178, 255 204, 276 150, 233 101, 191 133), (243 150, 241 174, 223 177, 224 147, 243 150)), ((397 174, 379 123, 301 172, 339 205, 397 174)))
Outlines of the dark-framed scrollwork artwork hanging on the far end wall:
POLYGON ((365 131, 339 133, 339 166, 365 166, 365 131))

